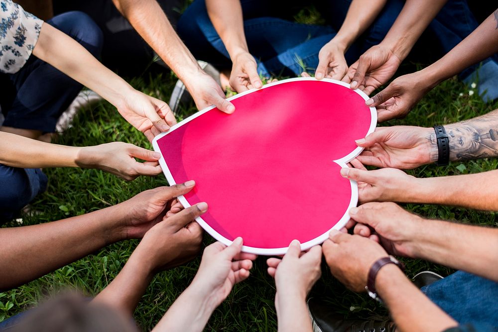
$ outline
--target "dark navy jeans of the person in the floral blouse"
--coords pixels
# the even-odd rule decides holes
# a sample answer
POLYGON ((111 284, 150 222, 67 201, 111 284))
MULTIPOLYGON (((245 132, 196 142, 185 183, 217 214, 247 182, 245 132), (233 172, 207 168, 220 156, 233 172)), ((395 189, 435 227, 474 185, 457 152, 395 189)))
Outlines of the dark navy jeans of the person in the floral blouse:
MULTIPOLYGON (((77 11, 47 21, 71 36, 94 56, 102 48, 102 32, 77 11)), ((4 126, 54 132, 57 119, 76 98, 82 85, 34 55, 15 74, 0 74, 0 105, 4 126)))

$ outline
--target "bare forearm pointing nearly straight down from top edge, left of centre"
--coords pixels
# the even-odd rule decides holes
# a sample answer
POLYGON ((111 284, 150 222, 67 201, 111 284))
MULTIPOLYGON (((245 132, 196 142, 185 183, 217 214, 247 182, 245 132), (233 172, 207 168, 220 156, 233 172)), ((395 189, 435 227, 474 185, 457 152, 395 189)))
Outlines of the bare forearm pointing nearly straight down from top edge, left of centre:
POLYGON ((240 1, 206 0, 206 7, 209 18, 232 60, 241 52, 249 52, 240 1))

